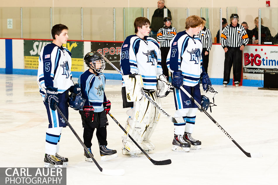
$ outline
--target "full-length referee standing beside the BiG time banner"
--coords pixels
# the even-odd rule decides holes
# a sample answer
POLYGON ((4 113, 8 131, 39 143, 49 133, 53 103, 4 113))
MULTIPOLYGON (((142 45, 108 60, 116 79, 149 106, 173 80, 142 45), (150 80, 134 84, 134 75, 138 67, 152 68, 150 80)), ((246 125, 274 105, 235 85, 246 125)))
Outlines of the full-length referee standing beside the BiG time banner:
POLYGON ((221 34, 221 45, 225 51, 223 85, 226 87, 230 82, 231 68, 234 65, 234 82, 237 87, 241 80, 242 51, 249 39, 244 27, 238 24, 238 15, 233 13, 230 19, 231 24, 227 25, 221 34))

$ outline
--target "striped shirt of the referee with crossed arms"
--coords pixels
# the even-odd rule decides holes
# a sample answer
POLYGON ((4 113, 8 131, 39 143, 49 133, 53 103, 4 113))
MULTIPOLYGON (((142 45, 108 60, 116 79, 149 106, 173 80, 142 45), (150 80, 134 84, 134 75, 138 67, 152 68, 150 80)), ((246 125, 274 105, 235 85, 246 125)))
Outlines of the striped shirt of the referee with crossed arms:
POLYGON ((157 41, 160 42, 160 47, 170 47, 170 42, 176 34, 177 30, 172 26, 160 28, 157 32, 157 41))

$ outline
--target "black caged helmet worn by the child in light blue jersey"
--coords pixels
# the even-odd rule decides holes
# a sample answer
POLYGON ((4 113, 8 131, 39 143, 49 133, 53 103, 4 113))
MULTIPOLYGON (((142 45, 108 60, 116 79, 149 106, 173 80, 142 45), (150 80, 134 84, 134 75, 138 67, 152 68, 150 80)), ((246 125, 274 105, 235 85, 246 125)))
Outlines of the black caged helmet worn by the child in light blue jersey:
POLYGON ((105 62, 102 55, 96 51, 87 53, 84 56, 84 62, 89 68, 95 70, 97 73, 102 72, 105 68, 105 62), (92 65, 90 64, 91 62, 92 65))

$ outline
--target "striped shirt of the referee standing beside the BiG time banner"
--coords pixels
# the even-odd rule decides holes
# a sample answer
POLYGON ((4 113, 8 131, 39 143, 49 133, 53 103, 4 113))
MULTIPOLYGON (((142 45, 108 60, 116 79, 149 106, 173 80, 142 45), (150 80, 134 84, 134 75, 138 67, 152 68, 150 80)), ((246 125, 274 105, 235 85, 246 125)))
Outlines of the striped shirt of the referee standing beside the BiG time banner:
POLYGON ((232 24, 227 25, 222 30, 221 45, 225 47, 240 47, 248 44, 248 34, 242 25, 237 24, 236 27, 232 24))

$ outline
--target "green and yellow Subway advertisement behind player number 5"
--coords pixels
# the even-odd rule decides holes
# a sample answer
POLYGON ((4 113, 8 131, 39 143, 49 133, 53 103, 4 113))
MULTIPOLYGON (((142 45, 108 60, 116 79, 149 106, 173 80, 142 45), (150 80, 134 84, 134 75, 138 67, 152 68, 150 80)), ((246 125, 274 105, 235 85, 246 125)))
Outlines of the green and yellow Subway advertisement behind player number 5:
MULTIPOLYGON (((24 69, 38 69, 41 49, 49 43, 52 40, 24 40, 24 69)), ((84 42, 68 41, 63 46, 71 52, 71 71, 83 72, 84 42)))

